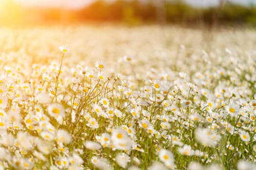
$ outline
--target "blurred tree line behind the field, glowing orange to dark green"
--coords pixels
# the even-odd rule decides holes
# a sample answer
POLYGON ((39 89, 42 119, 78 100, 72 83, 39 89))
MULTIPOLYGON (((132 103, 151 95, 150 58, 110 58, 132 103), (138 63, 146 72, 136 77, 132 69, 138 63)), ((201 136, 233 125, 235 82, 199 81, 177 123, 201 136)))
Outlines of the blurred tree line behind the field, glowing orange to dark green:
POLYGON ((190 6, 183 0, 147 0, 145 3, 139 0, 116 0, 112 3, 96 0, 80 10, 67 10, 40 7, 23 9, 10 0, 5 6, 0 6, 0 23, 18 22, 34 25, 35 23, 114 21, 132 26, 145 23, 173 23, 210 28, 223 25, 256 27, 255 5, 243 6, 228 0, 222 2, 224 2, 222 5, 200 8, 190 6))

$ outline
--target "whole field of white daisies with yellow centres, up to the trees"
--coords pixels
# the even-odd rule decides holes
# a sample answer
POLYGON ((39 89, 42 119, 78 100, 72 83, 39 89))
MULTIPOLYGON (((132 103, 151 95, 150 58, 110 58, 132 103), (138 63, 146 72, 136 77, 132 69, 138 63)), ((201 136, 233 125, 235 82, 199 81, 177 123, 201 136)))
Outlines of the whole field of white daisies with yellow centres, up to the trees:
POLYGON ((253 170, 256 32, 0 28, 0 170, 253 170))

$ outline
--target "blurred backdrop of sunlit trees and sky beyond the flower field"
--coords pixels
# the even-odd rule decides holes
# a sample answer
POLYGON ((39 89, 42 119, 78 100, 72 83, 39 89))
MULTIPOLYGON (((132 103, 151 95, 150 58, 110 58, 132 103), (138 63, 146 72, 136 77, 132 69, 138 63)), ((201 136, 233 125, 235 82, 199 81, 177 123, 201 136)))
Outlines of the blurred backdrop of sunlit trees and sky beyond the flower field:
POLYGON ((256 26, 256 0, 0 0, 0 25, 256 26))

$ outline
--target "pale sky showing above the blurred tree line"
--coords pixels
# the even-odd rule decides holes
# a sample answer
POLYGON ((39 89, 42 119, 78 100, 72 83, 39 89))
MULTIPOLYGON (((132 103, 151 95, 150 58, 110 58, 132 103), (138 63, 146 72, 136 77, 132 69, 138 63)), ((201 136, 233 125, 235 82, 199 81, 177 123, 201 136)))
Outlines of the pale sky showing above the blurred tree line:
MULTIPOLYGON (((8 0, 0 0, 8 1, 8 0)), ((94 0, 15 0, 25 6, 40 6, 40 7, 57 7, 57 8, 68 8, 68 9, 79 9, 92 3, 94 0)), ((115 1, 115 0, 106 0, 115 1)), ((146 1, 146 0, 141 0, 146 1)), ((219 0, 184 0, 187 3, 197 7, 215 6, 219 0)), ((225 0, 227 1, 227 0, 225 0)), ((232 2, 250 5, 251 3, 256 4, 256 0, 229 0, 232 2)))

